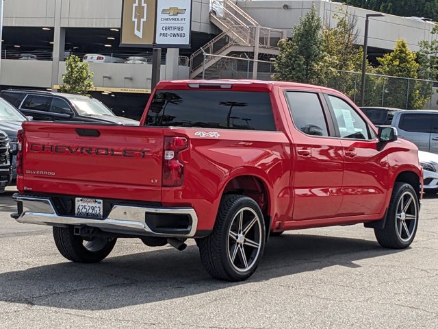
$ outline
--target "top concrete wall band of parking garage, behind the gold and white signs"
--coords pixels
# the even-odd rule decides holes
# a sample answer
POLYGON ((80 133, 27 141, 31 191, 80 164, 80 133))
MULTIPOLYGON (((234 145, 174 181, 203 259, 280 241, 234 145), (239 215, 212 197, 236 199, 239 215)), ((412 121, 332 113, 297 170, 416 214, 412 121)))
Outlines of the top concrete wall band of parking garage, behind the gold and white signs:
MULTIPOLYGON (((120 27, 122 0, 8 0, 5 26, 53 27, 55 1, 62 1, 62 27, 120 27)), ((214 33, 209 0, 192 1, 192 29, 214 33)))

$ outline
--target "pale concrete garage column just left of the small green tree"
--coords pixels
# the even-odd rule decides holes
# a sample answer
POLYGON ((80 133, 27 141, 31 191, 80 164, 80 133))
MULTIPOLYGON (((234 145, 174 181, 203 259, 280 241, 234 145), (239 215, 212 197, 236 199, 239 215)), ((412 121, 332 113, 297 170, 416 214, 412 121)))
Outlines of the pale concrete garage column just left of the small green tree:
POLYGON ((60 84, 60 61, 64 60, 66 45, 66 29, 61 27, 62 0, 55 0, 55 26, 53 31, 53 62, 52 62, 52 91, 56 92, 55 84, 60 84))

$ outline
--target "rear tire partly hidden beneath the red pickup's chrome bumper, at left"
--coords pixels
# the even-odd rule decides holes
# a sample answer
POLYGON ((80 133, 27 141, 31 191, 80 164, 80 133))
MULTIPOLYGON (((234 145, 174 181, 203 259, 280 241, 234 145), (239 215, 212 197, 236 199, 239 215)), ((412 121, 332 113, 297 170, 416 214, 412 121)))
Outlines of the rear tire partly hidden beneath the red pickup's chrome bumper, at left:
POLYGON ((117 241, 101 237, 85 241, 81 236, 73 234, 73 226, 54 227, 53 238, 62 256, 75 263, 99 263, 112 252, 117 241))

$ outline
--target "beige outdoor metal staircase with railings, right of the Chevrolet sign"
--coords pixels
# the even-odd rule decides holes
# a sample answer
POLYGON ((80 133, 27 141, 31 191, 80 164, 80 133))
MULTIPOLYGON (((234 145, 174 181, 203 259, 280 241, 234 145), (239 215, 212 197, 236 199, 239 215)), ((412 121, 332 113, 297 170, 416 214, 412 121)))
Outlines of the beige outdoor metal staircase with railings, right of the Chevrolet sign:
MULTIPOLYGON (((210 40, 206 45, 195 51, 190 56, 190 78, 203 77, 203 73, 211 68, 222 58, 236 53, 253 53, 257 60, 259 53, 278 55, 277 43, 285 37, 281 29, 261 27, 255 19, 246 14, 232 0, 218 2, 210 10, 210 21, 222 33, 210 40)), ((254 62, 253 78, 257 76, 257 62, 254 62)))

